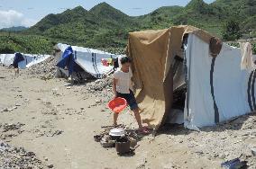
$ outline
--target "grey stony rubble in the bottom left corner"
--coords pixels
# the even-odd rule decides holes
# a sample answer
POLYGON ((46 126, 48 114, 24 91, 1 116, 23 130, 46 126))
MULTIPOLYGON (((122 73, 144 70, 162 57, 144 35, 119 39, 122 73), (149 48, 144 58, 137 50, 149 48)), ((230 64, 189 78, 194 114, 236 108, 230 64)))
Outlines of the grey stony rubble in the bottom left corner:
POLYGON ((26 151, 23 147, 12 147, 0 140, 0 166, 1 168, 52 168, 37 159, 33 152, 26 151))

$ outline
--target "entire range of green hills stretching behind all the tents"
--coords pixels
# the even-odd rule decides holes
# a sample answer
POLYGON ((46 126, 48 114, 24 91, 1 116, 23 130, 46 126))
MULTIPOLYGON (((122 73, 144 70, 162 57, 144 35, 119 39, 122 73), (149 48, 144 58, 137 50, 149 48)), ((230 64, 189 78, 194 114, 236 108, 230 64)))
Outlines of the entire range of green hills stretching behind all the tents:
MULTIPOLYGON (((221 38, 224 22, 233 19, 240 23, 244 35, 250 30, 256 37, 256 0, 216 0, 212 4, 191 0, 184 7, 164 6, 136 17, 106 3, 97 4, 89 11, 78 6, 47 15, 19 36, 45 37, 49 44, 54 41, 90 48, 124 48, 130 31, 164 29, 179 24, 193 25, 221 38)), ((4 42, 0 42, 0 49, 1 43, 4 42)))

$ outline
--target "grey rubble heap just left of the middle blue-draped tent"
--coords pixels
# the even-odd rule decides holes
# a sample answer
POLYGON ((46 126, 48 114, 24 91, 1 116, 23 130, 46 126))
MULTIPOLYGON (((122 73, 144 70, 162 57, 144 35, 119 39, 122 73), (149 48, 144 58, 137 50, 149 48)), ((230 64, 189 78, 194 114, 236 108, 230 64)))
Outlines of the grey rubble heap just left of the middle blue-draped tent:
POLYGON ((28 68, 28 73, 32 76, 40 77, 43 80, 52 79, 56 73, 56 58, 51 56, 45 61, 28 68))

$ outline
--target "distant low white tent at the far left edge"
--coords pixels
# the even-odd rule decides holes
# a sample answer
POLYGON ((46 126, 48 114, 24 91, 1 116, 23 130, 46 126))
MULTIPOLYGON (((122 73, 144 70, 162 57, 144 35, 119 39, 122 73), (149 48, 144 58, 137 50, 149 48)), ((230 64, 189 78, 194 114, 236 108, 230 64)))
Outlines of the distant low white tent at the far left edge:
MULTIPOLYGON (((0 54, 1 64, 5 67, 9 67, 14 63, 15 54, 0 54)), ((18 63, 19 68, 25 69, 32 67, 33 65, 39 64, 50 58, 50 55, 32 55, 32 54, 23 54, 23 61, 18 63)))

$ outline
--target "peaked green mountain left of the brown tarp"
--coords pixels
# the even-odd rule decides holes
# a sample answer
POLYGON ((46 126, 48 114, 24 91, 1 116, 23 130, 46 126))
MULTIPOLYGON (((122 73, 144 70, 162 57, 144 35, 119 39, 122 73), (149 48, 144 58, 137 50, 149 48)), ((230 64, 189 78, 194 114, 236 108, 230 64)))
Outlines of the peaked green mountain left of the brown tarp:
POLYGON ((51 39, 87 47, 120 47, 127 32, 139 24, 109 4, 97 4, 90 11, 78 6, 64 13, 49 14, 31 29, 29 34, 39 34, 51 39))

